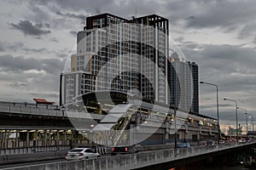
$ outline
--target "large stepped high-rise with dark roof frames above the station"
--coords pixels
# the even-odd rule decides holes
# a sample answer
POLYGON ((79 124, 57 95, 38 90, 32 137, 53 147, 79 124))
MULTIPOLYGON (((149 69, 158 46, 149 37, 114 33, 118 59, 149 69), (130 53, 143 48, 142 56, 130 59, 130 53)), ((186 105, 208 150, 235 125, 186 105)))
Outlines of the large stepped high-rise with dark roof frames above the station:
POLYGON ((166 56, 168 20, 155 14, 88 17, 77 35, 71 72, 61 74, 60 104, 87 92, 116 90, 168 105, 166 56))

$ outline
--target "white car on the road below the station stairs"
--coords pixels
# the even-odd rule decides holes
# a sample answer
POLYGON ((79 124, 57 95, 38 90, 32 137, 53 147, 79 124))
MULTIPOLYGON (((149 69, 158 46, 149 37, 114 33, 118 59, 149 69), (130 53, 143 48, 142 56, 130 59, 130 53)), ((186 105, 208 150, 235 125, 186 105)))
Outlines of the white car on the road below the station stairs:
POLYGON ((93 157, 100 157, 99 153, 91 150, 90 148, 74 148, 73 150, 69 150, 65 154, 65 160, 82 160, 89 159, 93 157))

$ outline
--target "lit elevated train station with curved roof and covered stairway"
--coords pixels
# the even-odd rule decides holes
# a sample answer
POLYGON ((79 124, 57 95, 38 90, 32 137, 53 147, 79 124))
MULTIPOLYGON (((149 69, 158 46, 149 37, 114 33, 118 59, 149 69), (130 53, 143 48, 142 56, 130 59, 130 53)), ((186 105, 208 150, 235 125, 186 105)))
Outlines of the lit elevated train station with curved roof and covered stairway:
MULTIPOLYGON (((81 99, 62 106, 1 102, 1 154, 174 142, 173 109, 166 105, 114 91, 81 99)), ((216 125, 214 118, 177 111, 177 142, 217 139, 216 125)))

